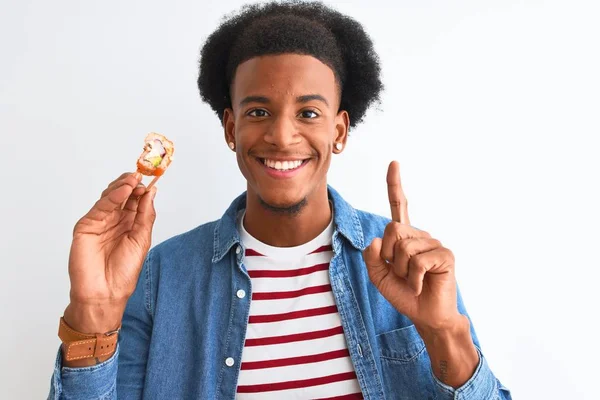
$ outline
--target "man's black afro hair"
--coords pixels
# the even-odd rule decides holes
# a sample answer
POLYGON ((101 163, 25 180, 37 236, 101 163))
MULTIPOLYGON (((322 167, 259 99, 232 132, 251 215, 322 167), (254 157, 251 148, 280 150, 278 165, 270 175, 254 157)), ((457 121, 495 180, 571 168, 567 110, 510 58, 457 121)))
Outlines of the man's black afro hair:
POLYGON ((198 89, 223 121, 238 65, 253 57, 304 54, 334 72, 340 109, 355 127, 383 89, 373 42, 354 19, 321 2, 284 1, 244 6, 227 16, 200 52, 198 89))

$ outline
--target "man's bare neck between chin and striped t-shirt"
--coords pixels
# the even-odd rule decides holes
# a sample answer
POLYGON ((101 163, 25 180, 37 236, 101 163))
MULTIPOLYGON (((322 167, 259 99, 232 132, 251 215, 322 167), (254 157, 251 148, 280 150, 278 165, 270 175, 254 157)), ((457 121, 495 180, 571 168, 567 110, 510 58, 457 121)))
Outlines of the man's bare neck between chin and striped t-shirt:
POLYGON ((310 193, 304 206, 295 213, 270 209, 248 187, 243 224, 250 235, 263 243, 293 247, 307 243, 323 232, 331 222, 331 215, 326 183, 310 193))

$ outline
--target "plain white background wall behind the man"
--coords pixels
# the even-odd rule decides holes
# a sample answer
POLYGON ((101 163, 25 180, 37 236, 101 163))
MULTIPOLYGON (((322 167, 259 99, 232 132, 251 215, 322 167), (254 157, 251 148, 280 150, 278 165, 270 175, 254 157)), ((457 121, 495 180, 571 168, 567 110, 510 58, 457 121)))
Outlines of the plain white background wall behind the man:
MULTIPOLYGON (((75 221, 171 137, 154 243, 245 189, 200 101, 199 48, 241 1, 1 1, 0 397, 46 396, 75 221)), ((329 182, 388 214, 401 163, 411 221, 455 253, 495 374, 518 399, 597 396, 600 60, 594 2, 349 1, 386 90, 329 182)))

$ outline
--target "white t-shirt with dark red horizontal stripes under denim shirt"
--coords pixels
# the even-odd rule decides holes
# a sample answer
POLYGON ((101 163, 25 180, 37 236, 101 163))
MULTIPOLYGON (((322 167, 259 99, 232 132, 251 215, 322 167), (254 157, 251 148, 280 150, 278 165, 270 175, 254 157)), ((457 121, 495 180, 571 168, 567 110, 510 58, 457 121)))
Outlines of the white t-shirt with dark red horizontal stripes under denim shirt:
POLYGON ((333 221, 315 239, 273 247, 240 219, 252 302, 237 399, 362 399, 329 281, 333 221))

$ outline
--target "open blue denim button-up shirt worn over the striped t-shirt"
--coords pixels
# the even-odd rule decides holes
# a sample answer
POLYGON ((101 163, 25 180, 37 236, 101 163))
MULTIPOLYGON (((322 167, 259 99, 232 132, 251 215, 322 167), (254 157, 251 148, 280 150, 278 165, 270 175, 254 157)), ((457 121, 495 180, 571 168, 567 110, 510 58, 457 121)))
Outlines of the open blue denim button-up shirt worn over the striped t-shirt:
MULTIPOLYGON (((335 225, 329 276, 364 398, 510 399, 473 324, 480 356, 474 375, 456 390, 436 379, 414 325, 377 291, 362 258, 390 220, 328 191, 335 225)), ((49 399, 234 399, 252 293, 236 225, 245 205, 242 194, 220 220, 154 247, 127 303, 115 355, 68 368, 59 351, 49 399), (236 296, 240 289, 248 295, 236 296)), ((460 293, 458 309, 466 315, 460 293)))

